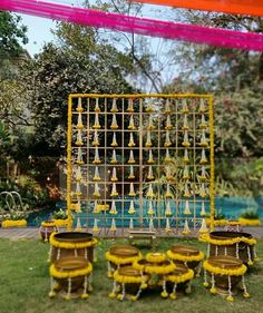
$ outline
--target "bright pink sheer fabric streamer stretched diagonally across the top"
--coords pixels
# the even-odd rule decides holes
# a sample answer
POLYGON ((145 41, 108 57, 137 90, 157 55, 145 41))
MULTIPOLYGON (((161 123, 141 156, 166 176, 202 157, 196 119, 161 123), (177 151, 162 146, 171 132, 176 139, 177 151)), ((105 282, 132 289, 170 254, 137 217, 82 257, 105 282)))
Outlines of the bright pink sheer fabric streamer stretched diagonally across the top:
MULTIPOLYGON (((205 2, 208 3, 212 1, 205 2)), ((213 2, 214 7, 218 4, 218 1, 213 2)), ((238 1, 238 3, 240 2, 241 1, 238 1)), ((257 7, 254 6, 254 3, 243 7, 254 7, 254 13, 261 14, 261 12, 263 11, 263 4, 260 4, 260 0, 256 1, 257 7)), ((237 6, 238 4, 236 4, 236 7, 237 6)), ((225 4, 225 7, 227 7, 227 4, 225 4)), ((88 27, 106 28, 115 31, 125 31, 143 36, 160 37, 166 39, 177 39, 182 41, 189 41, 224 48, 263 51, 262 33, 160 21, 147 18, 77 8, 72 6, 57 4, 52 2, 45 2, 38 0, 1 0, 0 9, 14 11, 19 13, 32 14, 42 18, 56 19, 60 21, 74 22, 88 27)), ((249 11, 245 12, 249 13, 249 11)))

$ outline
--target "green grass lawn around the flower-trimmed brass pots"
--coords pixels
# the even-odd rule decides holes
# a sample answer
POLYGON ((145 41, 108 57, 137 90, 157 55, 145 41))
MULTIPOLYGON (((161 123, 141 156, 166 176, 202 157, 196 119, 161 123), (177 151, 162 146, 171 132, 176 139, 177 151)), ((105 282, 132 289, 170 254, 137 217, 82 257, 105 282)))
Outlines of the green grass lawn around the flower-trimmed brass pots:
MULTIPOLYGON (((115 244, 126 243, 124 239, 101 239, 98 248, 98 262, 94 271, 94 292, 88 300, 65 301, 49 299, 49 274, 47 256, 49 245, 40 241, 0 239, 0 312, 1 313, 252 313, 263 312, 263 268, 257 263, 246 275, 246 284, 251 299, 244 300, 238 294, 234 302, 214 296, 203 287, 203 278, 195 278, 189 295, 177 300, 163 300, 159 293, 147 294, 136 302, 108 299, 113 284, 106 276, 107 263, 105 252, 115 244)), ((197 245, 206 251, 206 245, 195 239, 160 239, 158 251, 165 251, 175 243, 197 245)), ((144 252, 147 250, 144 248, 144 252)), ((257 254, 263 258, 263 242, 257 245, 257 254)))

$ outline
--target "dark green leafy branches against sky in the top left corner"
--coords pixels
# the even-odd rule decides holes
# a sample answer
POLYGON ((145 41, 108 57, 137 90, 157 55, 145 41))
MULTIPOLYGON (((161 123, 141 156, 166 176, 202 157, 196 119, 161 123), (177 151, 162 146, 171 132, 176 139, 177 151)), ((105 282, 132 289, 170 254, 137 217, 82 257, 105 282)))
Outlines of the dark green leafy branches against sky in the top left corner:
POLYGON ((27 27, 20 25, 21 17, 0 11, 0 55, 1 58, 16 57, 22 52, 21 45, 28 42, 27 27))

